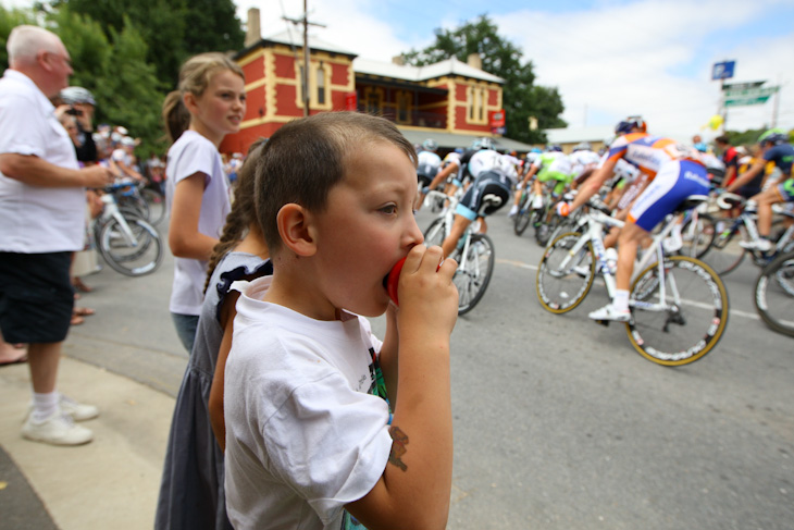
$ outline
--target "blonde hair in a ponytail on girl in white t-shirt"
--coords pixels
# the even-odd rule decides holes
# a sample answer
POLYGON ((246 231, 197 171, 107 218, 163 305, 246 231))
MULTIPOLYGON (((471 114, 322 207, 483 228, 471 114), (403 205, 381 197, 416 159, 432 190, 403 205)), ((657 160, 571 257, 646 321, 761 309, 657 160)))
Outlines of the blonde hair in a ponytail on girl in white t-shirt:
POLYGON ((172 144, 190 126, 190 112, 183 101, 185 94, 190 93, 200 98, 210 85, 210 79, 216 73, 225 71, 231 71, 246 81, 239 64, 219 52, 199 53, 182 65, 178 88, 165 96, 163 101, 162 118, 165 134, 172 144))

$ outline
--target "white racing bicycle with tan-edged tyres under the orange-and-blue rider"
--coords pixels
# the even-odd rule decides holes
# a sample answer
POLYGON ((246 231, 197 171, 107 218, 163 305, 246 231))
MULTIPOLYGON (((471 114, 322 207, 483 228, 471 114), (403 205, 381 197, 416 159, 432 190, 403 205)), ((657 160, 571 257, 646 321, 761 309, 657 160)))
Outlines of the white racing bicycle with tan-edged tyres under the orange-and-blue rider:
MULTIPOLYGON (((625 330, 632 346, 658 365, 681 366, 703 358, 728 324, 728 292, 719 275, 695 258, 670 255, 680 249, 668 238, 680 213, 703 200, 705 196, 687 198, 634 268, 629 300, 632 316, 625 330)), ((581 221, 586 230, 559 235, 537 269, 537 297, 544 309, 556 315, 584 300, 597 272, 603 274, 610 298, 615 295, 617 266, 607 259, 603 237, 605 227, 621 227, 623 222, 612 218, 600 201, 591 200, 590 207, 581 221)))

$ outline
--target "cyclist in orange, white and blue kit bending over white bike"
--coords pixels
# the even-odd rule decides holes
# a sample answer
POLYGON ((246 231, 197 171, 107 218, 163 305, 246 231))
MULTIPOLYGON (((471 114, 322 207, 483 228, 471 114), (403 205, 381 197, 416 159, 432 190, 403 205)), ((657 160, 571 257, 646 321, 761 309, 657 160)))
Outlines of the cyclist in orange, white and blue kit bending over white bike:
POLYGON ((619 137, 609 146, 604 164, 585 182, 571 204, 570 210, 575 210, 597 193, 621 158, 653 180, 631 207, 625 226, 620 231, 615 299, 591 312, 590 318, 594 320, 626 322, 631 319, 629 288, 637 245, 687 196, 708 194, 706 167, 699 161, 697 151, 670 138, 650 136, 646 128, 645 121, 638 116, 618 123, 615 134, 619 137))

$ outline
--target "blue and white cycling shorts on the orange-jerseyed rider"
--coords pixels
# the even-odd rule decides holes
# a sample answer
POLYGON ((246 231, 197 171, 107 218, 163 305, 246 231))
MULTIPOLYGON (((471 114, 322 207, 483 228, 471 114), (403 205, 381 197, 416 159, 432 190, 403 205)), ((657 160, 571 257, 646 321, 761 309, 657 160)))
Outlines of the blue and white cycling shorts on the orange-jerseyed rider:
POLYGON ((665 162, 656 178, 629 212, 629 221, 650 232, 659 221, 671 213, 690 195, 708 195, 706 168, 690 160, 665 162))

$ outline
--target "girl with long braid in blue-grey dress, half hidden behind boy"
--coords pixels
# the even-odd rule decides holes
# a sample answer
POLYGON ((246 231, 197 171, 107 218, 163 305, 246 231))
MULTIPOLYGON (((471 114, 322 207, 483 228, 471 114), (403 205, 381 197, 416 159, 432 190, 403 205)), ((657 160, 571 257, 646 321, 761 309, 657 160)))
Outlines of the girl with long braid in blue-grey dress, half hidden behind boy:
POLYGON ((234 207, 210 259, 196 342, 171 423, 156 529, 232 528, 223 485, 223 371, 239 293, 229 286, 273 273, 253 199, 261 145, 249 150, 234 207))

